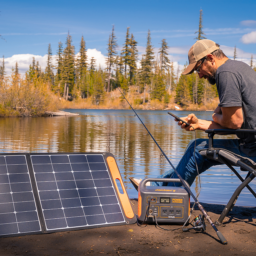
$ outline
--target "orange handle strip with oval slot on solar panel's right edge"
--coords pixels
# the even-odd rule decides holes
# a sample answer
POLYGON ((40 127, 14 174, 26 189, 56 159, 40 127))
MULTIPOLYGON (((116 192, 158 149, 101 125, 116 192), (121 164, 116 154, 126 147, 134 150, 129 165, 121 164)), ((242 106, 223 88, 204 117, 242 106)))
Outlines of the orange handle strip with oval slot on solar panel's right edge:
POLYGON ((134 217, 132 206, 130 204, 129 197, 128 197, 127 193, 126 193, 125 186, 123 184, 123 180, 121 178, 121 175, 120 175, 120 172, 118 170, 118 167, 117 167, 117 164, 115 162, 114 157, 108 156, 107 157, 107 162, 108 162, 108 165, 109 165, 109 169, 110 169, 111 175, 112 175, 113 180, 114 180, 114 184, 115 184, 118 196, 119 196, 119 198, 121 200, 121 204, 123 206, 124 213, 125 213, 127 218, 132 219, 134 217), (121 183, 121 186, 123 188, 124 194, 120 193, 115 179, 119 179, 120 180, 120 183, 121 183))

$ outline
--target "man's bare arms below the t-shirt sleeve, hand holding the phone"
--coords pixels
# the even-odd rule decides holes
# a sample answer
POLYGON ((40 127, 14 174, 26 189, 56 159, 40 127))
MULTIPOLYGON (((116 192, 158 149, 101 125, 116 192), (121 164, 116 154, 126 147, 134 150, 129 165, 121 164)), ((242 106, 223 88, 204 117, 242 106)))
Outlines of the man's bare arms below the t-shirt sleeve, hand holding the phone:
MULTIPOLYGON (((184 121, 191 123, 190 126, 185 127, 185 124, 178 122, 180 128, 186 131, 207 129, 239 129, 243 124, 243 113, 241 107, 217 107, 212 115, 214 121, 198 119, 195 114, 189 114, 182 118, 184 121), (194 129, 192 128, 194 127, 194 129)), ((175 119, 175 121, 178 121, 175 119)))

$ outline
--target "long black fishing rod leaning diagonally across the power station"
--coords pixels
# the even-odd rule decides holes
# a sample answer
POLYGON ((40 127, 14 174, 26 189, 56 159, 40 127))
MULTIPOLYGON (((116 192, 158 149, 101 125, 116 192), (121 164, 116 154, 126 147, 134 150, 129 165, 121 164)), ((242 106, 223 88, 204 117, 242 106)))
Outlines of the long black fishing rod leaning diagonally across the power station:
MULTIPOLYGON (((114 81, 112 81, 112 83, 115 84, 114 81)), ((116 88, 120 91, 120 89, 117 87, 117 85, 115 84, 116 88)), ((123 93, 120 91, 120 93, 123 95, 123 93)), ((125 98, 125 96, 123 95, 123 99, 127 101, 127 99, 125 98)), ((179 173, 177 172, 176 168, 173 166, 172 162, 169 160, 169 158, 166 156, 166 154, 164 153, 164 151, 162 150, 162 148, 158 145, 158 143, 156 142, 155 138, 152 136, 152 134, 150 133, 150 131, 147 129, 147 127, 145 126, 145 124, 142 122, 142 120, 140 119, 140 117, 137 115, 137 113, 135 112, 135 110, 133 109, 133 107, 130 105, 130 103, 127 101, 127 103, 129 104, 129 106, 131 107, 131 109, 133 110, 133 112, 135 113, 134 116, 137 116, 137 118, 141 121, 141 123, 143 124, 143 126, 145 127, 145 129, 147 130, 147 136, 150 135, 150 137, 153 139, 153 141, 156 143, 157 147, 159 148, 159 150, 161 151, 161 155, 160 157, 165 157, 165 159, 168 161, 168 163, 170 164, 170 166, 172 166, 174 172, 177 174, 178 178, 180 179, 181 183, 184 185, 184 187, 186 188, 187 192, 193 197, 193 199, 195 200, 199 210, 202 212, 202 214, 205 216, 205 219, 211 224, 211 226, 213 227, 213 229, 215 230, 215 232, 217 233, 218 238, 220 239, 220 241, 222 242, 222 244, 227 244, 227 240, 226 238, 222 235, 222 233, 216 228, 216 226, 214 225, 214 222, 211 220, 210 216, 208 215, 207 211, 204 209, 204 207, 200 204, 200 202, 197 200, 196 196, 192 193, 192 191, 190 190, 190 188, 187 186, 187 184, 185 183, 184 179, 179 175, 179 173)))

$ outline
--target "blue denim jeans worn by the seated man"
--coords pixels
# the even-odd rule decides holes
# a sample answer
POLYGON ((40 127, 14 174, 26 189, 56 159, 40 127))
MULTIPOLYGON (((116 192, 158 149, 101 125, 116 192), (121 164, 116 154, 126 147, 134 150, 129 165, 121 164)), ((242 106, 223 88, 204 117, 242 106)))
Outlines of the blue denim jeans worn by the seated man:
MULTIPOLYGON (((256 156, 247 156, 241 150, 239 150, 239 144, 241 143, 241 139, 214 139, 214 147, 215 148, 223 148, 228 151, 231 151, 237 155, 248 157, 252 159, 254 162, 256 161, 256 156)), ((191 140, 185 149, 185 153, 183 157, 180 159, 178 165, 175 167, 179 175, 187 181, 189 186, 194 182, 197 174, 195 157, 194 157, 194 147, 195 147, 195 139, 191 140)), ((218 161, 208 159, 202 155, 200 155, 199 150, 208 148, 208 139, 197 139, 196 140, 196 163, 198 167, 198 172, 201 174, 202 172, 209 169, 211 166, 221 164, 218 161)), ((158 176, 157 178, 178 178, 177 174, 173 169, 170 169, 166 173, 158 176)), ((151 186, 170 186, 173 187, 173 182, 151 182, 151 186)), ((176 185, 177 186, 177 185, 176 185)))

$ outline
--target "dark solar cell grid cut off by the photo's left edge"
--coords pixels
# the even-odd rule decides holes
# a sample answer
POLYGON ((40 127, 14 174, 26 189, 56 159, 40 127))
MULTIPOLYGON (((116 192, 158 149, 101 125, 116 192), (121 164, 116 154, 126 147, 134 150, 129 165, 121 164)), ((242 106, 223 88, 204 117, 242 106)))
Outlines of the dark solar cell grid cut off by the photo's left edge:
POLYGON ((0 235, 41 231, 25 155, 0 156, 0 235))

